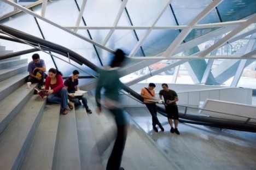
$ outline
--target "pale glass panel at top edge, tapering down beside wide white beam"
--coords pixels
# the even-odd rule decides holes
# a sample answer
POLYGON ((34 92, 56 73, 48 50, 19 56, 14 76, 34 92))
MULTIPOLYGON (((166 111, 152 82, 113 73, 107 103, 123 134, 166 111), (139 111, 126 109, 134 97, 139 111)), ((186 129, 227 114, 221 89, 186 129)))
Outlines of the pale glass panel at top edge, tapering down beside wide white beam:
POLYGON ((187 25, 211 2, 211 0, 173 0, 171 5, 179 25, 187 25))

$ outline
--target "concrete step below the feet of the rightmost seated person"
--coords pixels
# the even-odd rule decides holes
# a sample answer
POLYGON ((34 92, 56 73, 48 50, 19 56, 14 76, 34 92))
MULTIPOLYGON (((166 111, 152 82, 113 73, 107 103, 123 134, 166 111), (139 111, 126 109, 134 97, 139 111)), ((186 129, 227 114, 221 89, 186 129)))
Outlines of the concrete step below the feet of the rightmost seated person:
MULTIPOLYGON (((90 107, 90 101, 88 104, 90 107)), ((86 113, 83 105, 75 107, 81 169, 103 169, 89 116, 91 114, 86 113)))

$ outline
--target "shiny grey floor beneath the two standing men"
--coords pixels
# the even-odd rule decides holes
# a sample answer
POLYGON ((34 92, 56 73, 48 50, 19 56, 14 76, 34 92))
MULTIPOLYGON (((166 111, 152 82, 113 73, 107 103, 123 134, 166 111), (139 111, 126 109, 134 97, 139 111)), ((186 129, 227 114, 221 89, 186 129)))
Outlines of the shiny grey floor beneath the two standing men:
POLYGON ((125 110, 148 133, 160 149, 181 169, 255 169, 256 133, 193 124, 179 124, 181 135, 170 133, 167 118, 158 115, 164 132, 152 130, 146 107, 125 110))

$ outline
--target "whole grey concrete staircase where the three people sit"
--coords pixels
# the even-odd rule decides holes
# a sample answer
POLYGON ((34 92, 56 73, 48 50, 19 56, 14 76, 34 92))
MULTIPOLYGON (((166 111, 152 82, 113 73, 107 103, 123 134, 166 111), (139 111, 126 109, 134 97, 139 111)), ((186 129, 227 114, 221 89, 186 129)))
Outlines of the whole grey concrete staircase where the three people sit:
MULTIPOLYGON (((0 56, 7 53, 0 47, 0 56), (2 50, 1 50, 2 49, 2 50), (4 51, 3 53, 1 53, 4 51)), ((106 169, 115 136, 113 117, 82 106, 60 114, 60 106, 34 95, 25 79, 27 59, 0 60, 0 169, 106 169)), ((179 169, 131 119, 122 166, 179 169)))

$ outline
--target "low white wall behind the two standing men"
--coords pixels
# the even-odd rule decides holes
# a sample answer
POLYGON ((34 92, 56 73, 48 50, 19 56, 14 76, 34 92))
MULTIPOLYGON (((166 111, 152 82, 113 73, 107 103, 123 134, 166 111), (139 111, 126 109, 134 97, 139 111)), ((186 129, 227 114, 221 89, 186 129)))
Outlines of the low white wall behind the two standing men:
MULTIPOLYGON (((140 94, 143 87, 148 84, 137 83, 131 88, 140 94)), ((252 105, 252 89, 250 88, 227 88, 220 86, 203 86, 187 84, 168 84, 169 89, 177 92, 178 105, 199 106, 200 101, 207 99, 237 102, 240 104, 252 105)), ((156 96, 159 96, 161 84, 156 84, 156 96)), ((132 99, 127 94, 121 94, 124 106, 142 106, 140 102, 132 99)))

